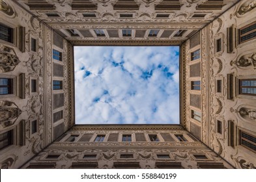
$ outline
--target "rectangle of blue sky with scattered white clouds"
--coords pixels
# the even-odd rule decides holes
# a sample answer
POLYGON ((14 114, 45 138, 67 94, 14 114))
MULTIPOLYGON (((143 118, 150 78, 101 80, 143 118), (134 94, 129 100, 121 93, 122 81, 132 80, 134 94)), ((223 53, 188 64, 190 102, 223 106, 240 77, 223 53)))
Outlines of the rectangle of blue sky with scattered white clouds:
POLYGON ((74 47, 76 124, 178 124, 179 47, 74 47))

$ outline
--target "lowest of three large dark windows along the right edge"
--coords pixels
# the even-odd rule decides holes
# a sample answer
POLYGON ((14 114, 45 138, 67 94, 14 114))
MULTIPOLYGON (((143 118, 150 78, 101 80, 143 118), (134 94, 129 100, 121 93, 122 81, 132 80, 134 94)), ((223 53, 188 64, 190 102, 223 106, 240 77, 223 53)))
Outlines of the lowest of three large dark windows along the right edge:
POLYGON ((256 152, 256 136, 250 135, 244 131, 240 131, 240 145, 256 152))

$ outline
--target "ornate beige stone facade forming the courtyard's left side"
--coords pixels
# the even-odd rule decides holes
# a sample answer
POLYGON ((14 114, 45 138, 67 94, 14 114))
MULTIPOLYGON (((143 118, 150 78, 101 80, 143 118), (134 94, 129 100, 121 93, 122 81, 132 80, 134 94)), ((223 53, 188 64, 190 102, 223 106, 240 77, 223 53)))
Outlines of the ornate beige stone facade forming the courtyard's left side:
MULTIPOLYGON (((13 30, 13 43, 0 39, 0 78, 12 79, 12 94, 0 95, 1 168, 19 168, 55 140, 54 129, 64 123, 61 135, 70 122, 70 90, 64 92, 65 119, 53 123, 55 109, 51 107, 53 91, 53 31, 12 1, 1 4, 0 23, 13 30), (33 40, 35 49, 33 49, 33 40), (32 89, 35 80, 35 90, 32 89), (33 92, 35 91, 35 92, 33 92), (34 122, 35 121, 35 122, 34 122), (34 129, 32 130, 32 127, 34 129), (9 132, 8 132, 9 131, 9 132), (8 133, 8 136, 5 134, 8 133), (5 135, 5 136, 4 136, 5 135), (5 144, 7 145, 5 145, 5 144)), ((62 39, 62 38, 61 38, 62 39)), ((68 58, 70 44, 63 40, 63 87, 70 87, 68 58)), ((69 63, 70 64, 70 63, 69 63)), ((63 92, 59 90, 59 92, 63 92)))

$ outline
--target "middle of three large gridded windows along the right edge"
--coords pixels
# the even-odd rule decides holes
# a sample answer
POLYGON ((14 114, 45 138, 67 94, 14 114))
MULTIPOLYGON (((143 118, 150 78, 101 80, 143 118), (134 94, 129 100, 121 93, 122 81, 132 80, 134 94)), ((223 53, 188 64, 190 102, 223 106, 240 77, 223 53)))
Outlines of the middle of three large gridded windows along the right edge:
POLYGON ((240 79, 239 94, 256 96, 256 79, 240 79))

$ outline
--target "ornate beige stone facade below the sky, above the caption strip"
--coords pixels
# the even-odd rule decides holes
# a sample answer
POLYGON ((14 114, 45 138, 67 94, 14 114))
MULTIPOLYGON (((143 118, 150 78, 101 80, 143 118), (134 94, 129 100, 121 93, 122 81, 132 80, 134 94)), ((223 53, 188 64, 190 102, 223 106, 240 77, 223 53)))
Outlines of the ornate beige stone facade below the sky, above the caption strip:
POLYGON ((232 168, 232 166, 178 125, 139 127, 76 125, 23 168, 232 168), (96 142, 97 136, 102 135, 104 140, 96 142), (122 141, 122 137, 127 135, 131 135, 131 142, 122 141), (158 140, 152 141, 150 135, 157 135, 158 140), (186 141, 181 142, 176 135, 182 135, 186 141), (160 155, 164 155, 165 158, 161 158, 160 155), (197 159, 194 155, 205 155, 205 159, 197 159))

